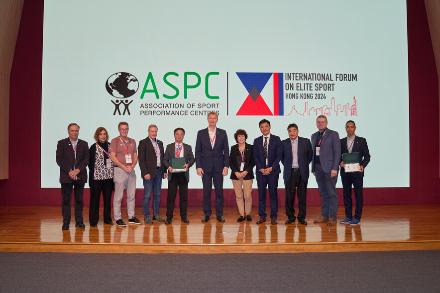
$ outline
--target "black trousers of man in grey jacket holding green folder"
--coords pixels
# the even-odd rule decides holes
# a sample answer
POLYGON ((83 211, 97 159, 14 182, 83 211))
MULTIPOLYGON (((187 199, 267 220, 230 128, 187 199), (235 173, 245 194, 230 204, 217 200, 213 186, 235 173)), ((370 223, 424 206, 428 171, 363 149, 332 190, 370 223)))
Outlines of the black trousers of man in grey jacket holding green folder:
POLYGON ((179 188, 180 217, 187 217, 188 208, 188 181, 185 173, 174 173, 168 181, 167 218, 173 218, 174 202, 176 201, 177 189, 179 188))

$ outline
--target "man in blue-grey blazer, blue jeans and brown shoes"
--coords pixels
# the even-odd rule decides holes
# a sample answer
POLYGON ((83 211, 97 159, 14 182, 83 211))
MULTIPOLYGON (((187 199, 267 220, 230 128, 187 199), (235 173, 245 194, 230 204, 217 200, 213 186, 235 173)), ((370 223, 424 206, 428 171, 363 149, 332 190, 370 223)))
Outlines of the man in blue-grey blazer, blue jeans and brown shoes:
POLYGON ((327 124, 326 116, 318 116, 316 126, 319 131, 312 134, 312 173, 316 177, 321 195, 321 216, 313 222, 327 222, 327 226, 334 226, 338 205, 336 182, 341 149, 339 134, 327 128, 327 124))

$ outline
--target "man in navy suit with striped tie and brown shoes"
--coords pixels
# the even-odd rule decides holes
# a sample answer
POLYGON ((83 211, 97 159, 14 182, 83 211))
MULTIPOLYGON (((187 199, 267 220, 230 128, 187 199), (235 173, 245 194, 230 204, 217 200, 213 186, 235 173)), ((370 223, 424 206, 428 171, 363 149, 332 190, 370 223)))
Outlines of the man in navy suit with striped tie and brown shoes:
POLYGON ((272 224, 277 224, 278 217, 278 178, 281 173, 281 140, 278 136, 270 134, 270 121, 263 119, 258 123, 263 134, 255 138, 253 155, 256 168, 258 186, 258 215, 257 224, 266 221, 266 187, 270 197, 270 219, 272 224))

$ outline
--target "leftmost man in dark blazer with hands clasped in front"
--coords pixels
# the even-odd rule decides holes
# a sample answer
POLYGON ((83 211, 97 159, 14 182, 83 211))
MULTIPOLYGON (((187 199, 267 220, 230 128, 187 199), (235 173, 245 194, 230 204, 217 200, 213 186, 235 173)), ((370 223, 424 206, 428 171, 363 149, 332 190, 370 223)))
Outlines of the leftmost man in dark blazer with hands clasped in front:
POLYGON ((72 205, 72 189, 75 195, 75 226, 85 228, 83 221, 83 191, 87 183, 86 167, 89 165, 89 145, 87 141, 78 139, 80 126, 70 123, 67 126, 68 138, 58 141, 56 160, 60 166, 60 183, 63 203, 61 213, 63 214, 63 230, 70 227, 72 205))

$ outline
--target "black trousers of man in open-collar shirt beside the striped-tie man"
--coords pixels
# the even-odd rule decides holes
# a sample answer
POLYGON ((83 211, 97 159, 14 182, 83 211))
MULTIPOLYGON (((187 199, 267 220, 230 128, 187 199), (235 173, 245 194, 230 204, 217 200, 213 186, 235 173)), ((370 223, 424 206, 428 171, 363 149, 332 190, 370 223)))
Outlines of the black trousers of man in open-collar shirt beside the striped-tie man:
POLYGON ((289 181, 284 182, 286 189, 286 215, 289 219, 295 220, 295 190, 298 196, 298 219, 306 218, 306 195, 307 182, 301 177, 300 170, 293 170, 290 173, 289 181))

